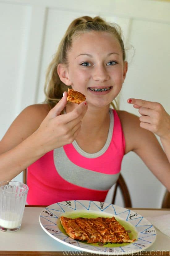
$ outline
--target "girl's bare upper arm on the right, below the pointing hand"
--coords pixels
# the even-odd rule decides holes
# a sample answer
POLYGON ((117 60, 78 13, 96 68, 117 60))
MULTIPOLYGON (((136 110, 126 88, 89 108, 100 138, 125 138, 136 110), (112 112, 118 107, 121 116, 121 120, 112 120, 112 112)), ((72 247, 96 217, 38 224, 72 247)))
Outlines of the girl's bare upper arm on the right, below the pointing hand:
POLYGON ((170 163, 155 135, 140 127, 137 116, 125 111, 120 111, 118 114, 125 135, 125 153, 134 151, 170 191, 170 163))

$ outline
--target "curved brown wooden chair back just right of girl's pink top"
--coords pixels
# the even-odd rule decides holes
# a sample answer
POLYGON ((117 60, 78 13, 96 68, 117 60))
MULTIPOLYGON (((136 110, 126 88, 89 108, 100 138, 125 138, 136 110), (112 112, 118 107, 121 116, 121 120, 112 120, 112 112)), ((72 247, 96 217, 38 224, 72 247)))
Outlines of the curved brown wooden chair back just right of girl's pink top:
POLYGON ((132 202, 131 202, 131 199, 130 199, 130 193, 129 193, 128 187, 125 183, 125 180, 124 180, 124 178, 121 174, 119 175, 119 178, 118 178, 118 180, 116 182, 116 185, 115 185, 115 189, 114 189, 114 192, 113 192, 112 204, 115 203, 118 187, 120 188, 120 191, 121 191, 121 195, 122 195, 123 202, 124 202, 124 207, 128 207, 128 208, 132 207, 132 202))

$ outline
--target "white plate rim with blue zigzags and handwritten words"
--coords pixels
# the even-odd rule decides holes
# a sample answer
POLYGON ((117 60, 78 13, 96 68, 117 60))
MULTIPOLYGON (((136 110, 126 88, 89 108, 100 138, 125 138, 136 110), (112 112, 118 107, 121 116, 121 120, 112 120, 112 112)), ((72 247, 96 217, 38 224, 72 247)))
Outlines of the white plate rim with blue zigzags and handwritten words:
MULTIPOLYGON (((50 207, 50 206, 49 206, 50 207)), ((125 209, 113 204, 108 204, 104 202, 96 202, 96 201, 83 201, 83 200, 72 200, 59 202, 54 205, 51 205, 51 208, 45 208, 44 212, 41 212, 40 218, 45 219, 47 222, 43 225, 46 231, 50 231, 50 234, 57 238, 57 240, 61 239, 66 243, 66 245, 70 245, 77 249, 85 249, 87 251, 95 250, 102 253, 111 254, 114 253, 123 253, 126 254, 127 250, 130 249, 132 252, 141 251, 141 249, 148 248, 149 244, 153 243, 154 237, 156 234, 149 234, 149 232, 155 232, 155 229, 151 223, 148 222, 147 225, 146 219, 140 216, 138 213, 134 213, 129 209, 125 209), (99 211, 106 212, 111 215, 117 215, 119 218, 122 218, 129 222, 131 225, 137 228, 138 231, 138 240, 125 246, 118 247, 96 247, 93 245, 88 245, 77 240, 73 240, 70 237, 66 236, 62 231, 59 230, 56 219, 61 216, 61 213, 69 212, 70 210, 87 210, 87 211, 99 211), (42 214, 43 213, 43 214, 42 214), (44 214, 45 213, 45 214, 44 214), (114 214, 113 214, 114 213, 114 214), (49 216, 48 216, 49 215, 49 216), (52 224, 50 224, 52 223, 52 224), (57 227, 57 229, 55 229, 57 227), (153 227, 153 229, 151 229, 153 227), (152 239, 153 238, 153 239, 152 239)), ((115 255, 115 254, 112 254, 115 255)))

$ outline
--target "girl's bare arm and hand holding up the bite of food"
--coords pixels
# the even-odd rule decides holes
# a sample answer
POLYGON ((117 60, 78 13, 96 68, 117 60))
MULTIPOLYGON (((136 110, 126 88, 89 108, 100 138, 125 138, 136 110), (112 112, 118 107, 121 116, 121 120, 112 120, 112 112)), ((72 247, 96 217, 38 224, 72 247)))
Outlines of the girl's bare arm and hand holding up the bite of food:
POLYGON ((87 106, 60 115, 66 97, 49 111, 32 105, 21 112, 0 142, 0 181, 11 180, 42 155, 74 141, 87 106))

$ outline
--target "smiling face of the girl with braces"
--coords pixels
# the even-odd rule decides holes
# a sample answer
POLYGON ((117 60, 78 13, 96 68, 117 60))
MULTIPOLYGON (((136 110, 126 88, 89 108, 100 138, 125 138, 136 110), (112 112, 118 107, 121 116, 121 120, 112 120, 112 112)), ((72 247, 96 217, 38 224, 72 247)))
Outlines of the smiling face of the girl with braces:
POLYGON ((107 32, 90 32, 75 38, 68 53, 67 75, 72 88, 89 104, 109 106, 122 88, 127 62, 119 41, 107 32))

